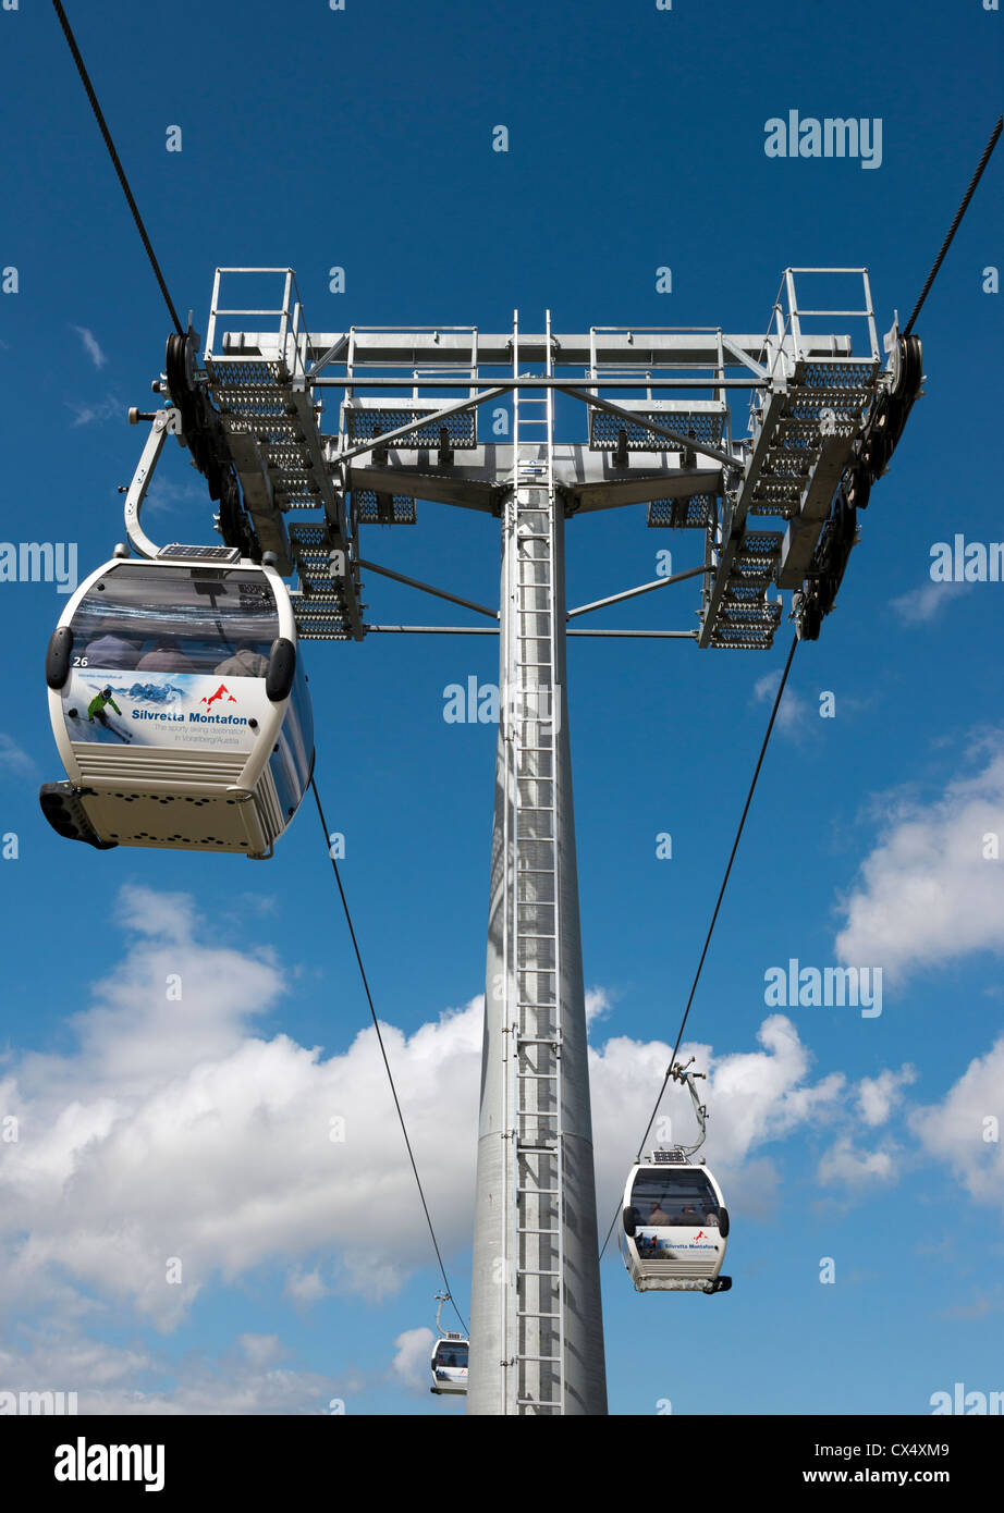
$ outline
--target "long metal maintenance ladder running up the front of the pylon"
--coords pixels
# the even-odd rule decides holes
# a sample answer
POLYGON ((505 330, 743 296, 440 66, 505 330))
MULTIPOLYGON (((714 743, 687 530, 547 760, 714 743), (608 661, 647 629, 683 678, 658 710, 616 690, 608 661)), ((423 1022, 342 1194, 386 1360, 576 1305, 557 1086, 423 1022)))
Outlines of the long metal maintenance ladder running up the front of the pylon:
MULTIPOLYGON (((551 315, 547 315, 547 375, 551 315)), ((519 321, 513 318, 513 378, 519 378, 519 321)), ((504 855, 515 870, 506 879, 506 1005, 503 1089, 507 1109, 509 1218, 506 1257, 506 1404, 521 1415, 565 1412, 563 1301, 563 1153, 562 1153, 562 1005, 557 927, 557 726, 556 542, 560 504, 554 493, 553 390, 525 396, 513 390, 513 486, 506 592, 515 608, 509 646, 506 720, 506 822, 512 837, 504 855), (512 856, 512 862, 509 858, 512 856)))

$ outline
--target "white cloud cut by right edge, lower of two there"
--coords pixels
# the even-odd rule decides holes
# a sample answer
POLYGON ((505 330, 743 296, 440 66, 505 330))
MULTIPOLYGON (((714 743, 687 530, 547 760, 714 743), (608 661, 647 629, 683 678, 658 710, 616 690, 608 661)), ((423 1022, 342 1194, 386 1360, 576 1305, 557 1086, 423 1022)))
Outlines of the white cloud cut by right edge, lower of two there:
POLYGON ((969 1062, 940 1103, 915 1109, 909 1124, 978 1203, 1004 1212, 1004 1036, 969 1062))

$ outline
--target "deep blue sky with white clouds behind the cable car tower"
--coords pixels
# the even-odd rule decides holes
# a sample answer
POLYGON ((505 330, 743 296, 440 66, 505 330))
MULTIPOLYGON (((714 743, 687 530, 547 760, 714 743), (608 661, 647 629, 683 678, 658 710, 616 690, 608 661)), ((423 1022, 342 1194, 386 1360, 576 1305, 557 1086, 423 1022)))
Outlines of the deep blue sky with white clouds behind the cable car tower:
MULTIPOLYGON (((230 263, 295 268, 312 330, 486 331, 513 306, 538 330, 550 307, 559 331, 760 331, 784 266, 866 265, 884 330, 1001 100, 1004 21, 978 0, 851 0, 837 23, 790 0, 768 23, 695 0, 182 0, 167 33, 142 8, 68 9, 174 303, 203 333, 230 263), (765 123, 792 107, 880 118, 881 166, 768 159, 765 123)), ((123 536, 117 487, 141 446, 124 413, 151 402, 170 324, 55 15, 21 0, 0 27, 0 266, 20 286, 0 295, 0 534, 76 542, 83 575, 123 536)), ((1004 1165, 981 1135, 1004 1118, 1004 861, 980 849, 1004 835, 1004 584, 928 573, 934 542, 1004 536, 1001 297, 983 287, 1004 260, 999 207, 998 150, 918 324, 925 398, 837 610, 797 655, 691 1018, 734 1286, 638 1297, 604 1260, 615 1413, 925 1413, 954 1381, 1004 1386, 1004 1165), (768 1006, 765 971, 790 958, 884 965, 881 1015, 768 1006)), ((582 413, 559 415, 582 439, 582 413)), ((210 513, 170 449, 150 531, 209 540, 210 513)), ((415 528, 373 528, 365 551, 491 602, 495 531, 419 504, 415 528)), ((697 540, 648 531, 641 507, 572 522, 569 599, 647 581, 663 548, 697 561, 697 540)), ((382 620, 435 616, 368 587, 382 620)), ((689 625, 691 589, 595 623, 689 625)), ((41 657, 62 604, 53 584, 0 584, 0 832, 17 835, 0 861, 0 1117, 20 1118, 0 1144, 0 1387, 79 1390, 94 1412, 460 1412, 415 1366, 438 1275, 315 817, 267 867, 62 843, 36 803, 61 776, 41 657), (162 1002, 168 971, 182 1006, 162 1002)), ((771 654, 571 646, 603 1229, 786 648, 786 626, 771 654)), ((369 637, 307 655, 321 791, 466 1310, 495 731, 447 725, 442 691, 494 681, 495 646, 369 637)))

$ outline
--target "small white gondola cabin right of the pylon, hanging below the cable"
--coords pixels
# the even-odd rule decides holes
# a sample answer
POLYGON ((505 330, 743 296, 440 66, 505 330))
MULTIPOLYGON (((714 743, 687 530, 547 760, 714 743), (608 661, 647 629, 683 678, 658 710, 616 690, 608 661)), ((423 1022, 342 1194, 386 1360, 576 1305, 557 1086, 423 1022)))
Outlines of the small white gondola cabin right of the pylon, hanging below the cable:
POLYGON ((713 1174, 680 1150, 631 1167, 624 1188, 621 1254, 636 1292, 727 1292, 728 1210, 713 1174))

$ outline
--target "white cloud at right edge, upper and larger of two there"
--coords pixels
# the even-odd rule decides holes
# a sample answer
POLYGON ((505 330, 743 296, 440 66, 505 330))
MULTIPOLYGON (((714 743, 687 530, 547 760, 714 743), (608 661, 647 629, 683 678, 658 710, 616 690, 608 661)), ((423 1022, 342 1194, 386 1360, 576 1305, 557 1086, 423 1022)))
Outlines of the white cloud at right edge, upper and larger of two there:
POLYGON ((984 835, 1004 838, 1004 750, 983 772, 953 779, 940 799, 903 799, 842 902, 843 962, 906 976, 977 950, 1004 952, 1004 861, 984 858, 984 835))

